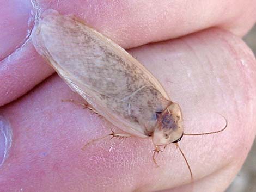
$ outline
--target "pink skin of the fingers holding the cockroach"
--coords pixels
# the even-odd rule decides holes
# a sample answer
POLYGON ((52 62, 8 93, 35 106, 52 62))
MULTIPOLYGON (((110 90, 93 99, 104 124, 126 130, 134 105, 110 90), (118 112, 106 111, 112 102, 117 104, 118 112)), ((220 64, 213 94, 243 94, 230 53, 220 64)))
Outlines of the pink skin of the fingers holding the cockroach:
MULTIPOLYGON (((7 2, 3 1, 3 7, 12 9, 1 20, 16 14, 11 10, 20 10, 7 2)), ((110 133, 108 127, 123 132, 88 109, 61 102, 82 100, 57 75, 48 77, 53 70, 31 42, 16 50, 26 39, 19 28, 15 33, 20 38, 8 45, 13 35, 7 35, 0 44, 5 50, 0 61, 0 114, 13 129, 13 145, 0 166, 0 191, 224 191, 245 160, 256 132, 256 61, 235 36, 244 35, 255 22, 256 2, 188 5, 177 1, 165 12, 168 1, 159 6, 154 1, 113 5, 59 2, 58 6, 57 1, 51 2, 42 1, 40 6, 81 16, 124 48, 133 47, 129 52, 160 80, 172 101, 179 103, 185 133, 222 128, 225 121, 217 113, 228 120, 228 127, 219 134, 184 136, 180 141, 192 168, 193 184, 175 145, 168 145, 156 157, 160 168, 152 160, 150 139, 105 139, 82 151, 89 140, 110 133), (155 43, 144 45, 148 42, 155 43)), ((32 10, 29 3, 20 6, 32 10)), ((11 27, 6 30, 14 33, 11 27)))

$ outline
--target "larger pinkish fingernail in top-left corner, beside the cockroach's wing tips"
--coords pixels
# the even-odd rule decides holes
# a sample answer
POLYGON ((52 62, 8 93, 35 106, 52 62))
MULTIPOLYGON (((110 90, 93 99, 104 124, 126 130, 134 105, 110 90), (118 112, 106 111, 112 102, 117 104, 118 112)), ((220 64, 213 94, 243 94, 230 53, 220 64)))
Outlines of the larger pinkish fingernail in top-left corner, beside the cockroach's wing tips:
POLYGON ((30 0, 1 1, 0 60, 8 57, 27 39, 33 25, 30 0))

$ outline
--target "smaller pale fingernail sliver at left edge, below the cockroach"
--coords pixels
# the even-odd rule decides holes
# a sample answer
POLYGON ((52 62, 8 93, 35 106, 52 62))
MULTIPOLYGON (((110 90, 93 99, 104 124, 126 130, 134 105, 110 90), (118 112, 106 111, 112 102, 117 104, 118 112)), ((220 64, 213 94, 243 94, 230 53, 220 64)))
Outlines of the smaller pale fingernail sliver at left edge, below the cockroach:
POLYGON ((0 166, 8 157, 12 136, 10 123, 3 116, 0 116, 0 166))

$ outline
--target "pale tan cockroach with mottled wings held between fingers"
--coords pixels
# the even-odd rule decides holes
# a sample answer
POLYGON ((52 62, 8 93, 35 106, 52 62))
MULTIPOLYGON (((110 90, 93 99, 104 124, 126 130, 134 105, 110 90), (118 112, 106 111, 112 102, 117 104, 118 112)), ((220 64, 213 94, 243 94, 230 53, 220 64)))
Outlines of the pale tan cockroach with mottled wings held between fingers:
POLYGON ((159 81, 123 48, 56 10, 46 10, 40 17, 32 32, 36 51, 89 108, 128 133, 112 136, 151 137, 155 161, 159 146, 178 146, 183 135, 201 135, 184 134, 179 104, 170 101, 159 81))

